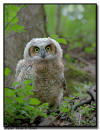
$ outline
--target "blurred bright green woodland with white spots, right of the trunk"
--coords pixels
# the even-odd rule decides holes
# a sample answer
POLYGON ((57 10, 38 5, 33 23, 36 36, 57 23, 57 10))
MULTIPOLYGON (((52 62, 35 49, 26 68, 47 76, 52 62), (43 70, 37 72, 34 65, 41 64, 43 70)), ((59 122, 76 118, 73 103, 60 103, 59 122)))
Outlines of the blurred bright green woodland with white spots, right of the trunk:
POLYGON ((44 5, 44 7, 49 35, 57 34, 65 38, 70 42, 68 50, 86 46, 85 52, 95 53, 96 5, 69 4, 44 5))

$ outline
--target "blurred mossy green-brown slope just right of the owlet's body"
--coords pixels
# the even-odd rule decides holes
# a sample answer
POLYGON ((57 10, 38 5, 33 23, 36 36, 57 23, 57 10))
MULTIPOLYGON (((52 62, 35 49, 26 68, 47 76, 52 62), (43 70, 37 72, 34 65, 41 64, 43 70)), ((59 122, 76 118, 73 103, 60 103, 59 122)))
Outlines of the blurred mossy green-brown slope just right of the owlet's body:
POLYGON ((73 95, 79 93, 78 90, 85 90, 85 84, 95 84, 95 79, 93 76, 71 63, 67 63, 65 65, 65 78, 67 82, 67 89, 65 92, 65 96, 73 95))

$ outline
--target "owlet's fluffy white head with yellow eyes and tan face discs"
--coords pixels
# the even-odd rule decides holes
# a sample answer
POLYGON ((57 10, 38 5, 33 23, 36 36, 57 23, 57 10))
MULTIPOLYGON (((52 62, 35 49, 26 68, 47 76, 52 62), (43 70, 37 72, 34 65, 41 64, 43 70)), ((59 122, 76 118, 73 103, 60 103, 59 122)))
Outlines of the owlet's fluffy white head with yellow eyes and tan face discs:
POLYGON ((24 50, 24 59, 35 61, 55 60, 62 58, 62 49, 57 41, 51 38, 33 38, 24 50))

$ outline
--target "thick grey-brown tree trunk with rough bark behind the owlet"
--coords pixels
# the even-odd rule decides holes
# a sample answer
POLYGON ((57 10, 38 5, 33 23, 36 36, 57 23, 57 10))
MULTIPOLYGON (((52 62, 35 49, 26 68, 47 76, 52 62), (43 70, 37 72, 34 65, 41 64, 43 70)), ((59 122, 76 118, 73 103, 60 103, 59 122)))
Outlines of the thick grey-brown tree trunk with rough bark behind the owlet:
POLYGON ((15 77, 18 60, 23 58, 24 48, 32 38, 45 37, 45 12, 43 5, 25 5, 18 14, 19 25, 25 27, 26 32, 11 32, 5 36, 4 67, 11 69, 11 74, 5 77, 5 86, 10 87, 15 77))

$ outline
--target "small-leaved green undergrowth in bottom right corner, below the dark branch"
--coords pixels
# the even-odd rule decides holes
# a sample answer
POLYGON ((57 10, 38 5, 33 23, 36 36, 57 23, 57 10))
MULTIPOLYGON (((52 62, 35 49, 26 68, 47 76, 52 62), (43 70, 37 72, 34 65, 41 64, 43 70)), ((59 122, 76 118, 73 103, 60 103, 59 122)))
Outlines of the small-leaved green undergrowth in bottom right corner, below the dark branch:
POLYGON ((77 104, 79 104, 79 101, 75 101, 75 97, 64 97, 64 101, 60 107, 62 116, 67 115, 73 126, 90 126, 90 124, 91 126, 95 126, 96 122, 93 118, 96 110, 95 103, 91 103, 91 105, 87 106, 85 104, 84 106, 80 106, 77 110, 72 111, 77 104))

